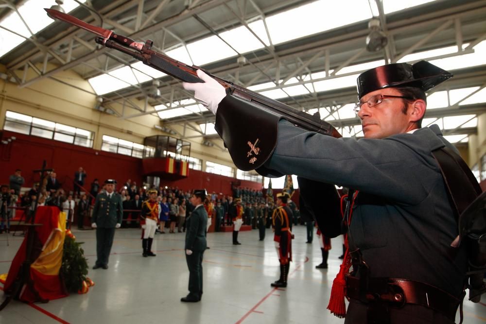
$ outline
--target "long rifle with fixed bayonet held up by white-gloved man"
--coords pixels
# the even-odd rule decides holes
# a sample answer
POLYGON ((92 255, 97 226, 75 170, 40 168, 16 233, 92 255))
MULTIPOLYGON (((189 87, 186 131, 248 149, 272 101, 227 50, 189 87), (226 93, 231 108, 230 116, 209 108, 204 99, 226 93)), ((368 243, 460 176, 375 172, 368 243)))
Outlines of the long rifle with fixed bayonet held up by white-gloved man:
POLYGON ((199 79, 196 74, 196 71, 198 69, 201 69, 206 74, 218 81, 221 85, 223 85, 226 88, 226 92, 228 94, 263 106, 273 111, 274 113, 282 116, 284 119, 287 119, 296 126, 306 129, 308 131, 333 137, 341 137, 338 131, 330 123, 320 118, 319 112, 315 113, 314 115, 310 115, 303 111, 298 111, 289 105, 265 97, 258 92, 251 91, 240 85, 235 85, 233 82, 224 80, 216 75, 213 75, 203 68, 197 66, 189 66, 182 62, 174 60, 167 55, 152 50, 154 42, 150 39, 147 39, 145 43, 138 43, 127 36, 115 34, 113 31, 93 26, 82 20, 79 20, 76 17, 72 17, 60 11, 53 9, 45 10, 52 18, 63 20, 80 28, 83 28, 88 32, 97 34, 98 37, 96 37, 95 39, 96 43, 101 44, 107 48, 111 48, 128 54, 143 62, 143 64, 151 68, 155 68, 166 74, 169 74, 178 80, 189 83, 203 83, 204 81, 199 79))

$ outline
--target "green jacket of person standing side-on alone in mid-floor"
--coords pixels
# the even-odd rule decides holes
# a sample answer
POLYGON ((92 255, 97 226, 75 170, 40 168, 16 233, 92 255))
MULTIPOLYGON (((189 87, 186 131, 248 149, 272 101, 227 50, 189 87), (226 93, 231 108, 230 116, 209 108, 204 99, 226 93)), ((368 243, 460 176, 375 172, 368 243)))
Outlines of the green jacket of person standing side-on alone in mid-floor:
POLYGON ((186 221, 186 250, 205 251, 206 226, 208 224, 208 213, 203 205, 198 206, 191 213, 186 221))

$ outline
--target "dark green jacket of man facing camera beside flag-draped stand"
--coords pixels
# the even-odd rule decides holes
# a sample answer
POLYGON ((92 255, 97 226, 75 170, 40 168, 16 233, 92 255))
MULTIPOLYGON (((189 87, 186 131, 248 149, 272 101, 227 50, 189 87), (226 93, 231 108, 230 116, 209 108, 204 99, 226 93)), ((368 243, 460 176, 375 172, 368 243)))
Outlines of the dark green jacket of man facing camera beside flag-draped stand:
POLYGON ((114 192, 110 199, 105 192, 96 196, 91 222, 96 223, 100 228, 115 228, 117 223, 121 224, 122 215, 123 206, 120 194, 114 192))

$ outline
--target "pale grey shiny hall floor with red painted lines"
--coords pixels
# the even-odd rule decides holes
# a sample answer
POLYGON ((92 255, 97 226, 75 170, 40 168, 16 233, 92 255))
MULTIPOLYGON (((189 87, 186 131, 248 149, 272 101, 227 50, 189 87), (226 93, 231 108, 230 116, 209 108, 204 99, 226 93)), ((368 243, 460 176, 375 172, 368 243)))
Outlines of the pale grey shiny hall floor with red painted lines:
MULTIPOLYGON (((0 312, 0 323, 343 323, 326 309, 332 280, 339 270, 341 239, 334 239, 329 269, 317 270, 319 244, 306 244, 305 226, 294 228, 294 262, 289 285, 275 290, 278 258, 271 230, 264 241, 258 231, 241 232, 243 245, 231 244, 232 233, 209 233, 204 254, 204 295, 200 303, 184 304, 189 273, 184 256, 185 233, 157 234, 156 257, 142 257, 140 230, 116 231, 109 269, 89 270, 95 282, 87 294, 71 294, 35 307, 12 301, 0 312), (54 319, 53 317, 57 317, 54 319)), ((96 259, 94 231, 73 234, 91 267, 96 259)), ((23 237, 0 235, 0 273, 8 272, 23 237)), ((1 293, 0 293, 1 295, 1 293)), ((464 304, 464 323, 486 322, 484 304, 464 304)), ((458 321, 457 321, 458 322, 458 321)))

